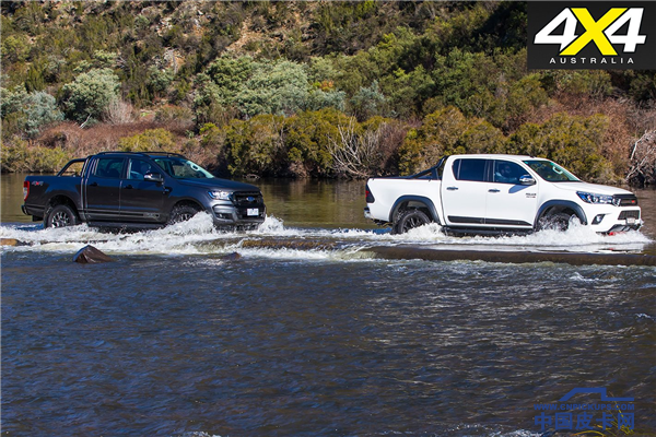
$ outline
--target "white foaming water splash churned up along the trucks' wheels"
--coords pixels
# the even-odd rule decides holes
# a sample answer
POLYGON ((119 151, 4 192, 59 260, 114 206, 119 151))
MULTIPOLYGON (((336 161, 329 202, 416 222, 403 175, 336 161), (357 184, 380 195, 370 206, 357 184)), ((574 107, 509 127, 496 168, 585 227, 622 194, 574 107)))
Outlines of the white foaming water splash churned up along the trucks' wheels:
MULTIPOLYGON (((43 228, 34 225, 2 225, 0 237, 25 243, 22 247, 2 247, 0 250, 71 251, 92 244, 103 251, 114 253, 194 255, 239 251, 253 257, 285 259, 354 259, 367 247, 376 245, 414 245, 430 248, 483 250, 566 250, 566 251, 641 251, 652 240, 640 232, 618 235, 599 235, 589 226, 574 225, 566 232, 541 231, 516 236, 455 237, 446 235, 437 224, 429 224, 407 234, 391 235, 389 229, 325 229, 285 226, 276 216, 250 232, 219 231, 209 214, 198 214, 191 220, 161 229, 133 233, 108 233, 85 224, 67 228, 43 228), (313 241, 316 248, 244 247, 248 239, 276 239, 313 241)), ((288 245, 290 246, 290 245, 288 245)), ((293 245, 291 245, 293 246, 293 245)), ((312 246, 312 245, 307 245, 312 246)))

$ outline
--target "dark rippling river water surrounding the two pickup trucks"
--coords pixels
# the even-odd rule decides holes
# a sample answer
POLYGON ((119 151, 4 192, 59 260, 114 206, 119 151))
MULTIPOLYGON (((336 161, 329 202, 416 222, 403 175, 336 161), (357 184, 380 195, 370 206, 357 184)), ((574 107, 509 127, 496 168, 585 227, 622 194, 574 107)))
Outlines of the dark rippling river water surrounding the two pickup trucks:
POLYGON ((362 217, 362 182, 288 180, 257 182, 257 232, 199 215, 109 234, 30 222, 22 179, 1 180, 0 237, 28 243, 0 249, 2 435, 539 436, 535 404, 575 388, 633 398, 637 435, 656 434, 656 269, 366 251, 654 255, 653 191, 643 231, 612 237, 391 236, 362 217), (86 244, 115 262, 71 262, 86 244))

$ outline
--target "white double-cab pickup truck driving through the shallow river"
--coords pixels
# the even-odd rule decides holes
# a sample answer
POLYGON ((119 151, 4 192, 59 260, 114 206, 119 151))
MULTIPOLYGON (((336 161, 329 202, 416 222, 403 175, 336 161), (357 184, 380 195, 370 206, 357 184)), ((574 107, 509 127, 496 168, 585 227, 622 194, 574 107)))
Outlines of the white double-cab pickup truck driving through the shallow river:
POLYGON ((434 222, 450 233, 566 229, 573 221, 598 233, 637 229, 637 198, 587 184, 532 156, 452 155, 417 175, 371 178, 364 215, 402 234, 434 222))

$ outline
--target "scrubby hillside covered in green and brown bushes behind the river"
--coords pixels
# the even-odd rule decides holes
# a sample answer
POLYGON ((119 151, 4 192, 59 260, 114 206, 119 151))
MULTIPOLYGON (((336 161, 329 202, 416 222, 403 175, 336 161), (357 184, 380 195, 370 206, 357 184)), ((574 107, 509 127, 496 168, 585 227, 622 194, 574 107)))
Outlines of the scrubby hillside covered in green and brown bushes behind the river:
POLYGON ((656 182, 656 72, 528 71, 525 2, 2 1, 2 170, 105 150, 224 176, 453 153, 656 182))

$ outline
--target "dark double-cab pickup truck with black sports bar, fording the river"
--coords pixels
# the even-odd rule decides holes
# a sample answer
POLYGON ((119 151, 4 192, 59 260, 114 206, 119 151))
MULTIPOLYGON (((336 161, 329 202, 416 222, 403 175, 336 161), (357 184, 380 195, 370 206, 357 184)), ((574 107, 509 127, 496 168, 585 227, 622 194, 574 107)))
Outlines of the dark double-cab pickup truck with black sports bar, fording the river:
POLYGON ((220 179, 175 153, 73 160, 57 176, 27 176, 23 194, 23 213, 44 227, 162 227, 204 211, 219 228, 254 229, 266 216, 257 187, 220 179))

